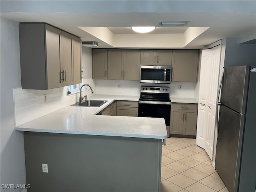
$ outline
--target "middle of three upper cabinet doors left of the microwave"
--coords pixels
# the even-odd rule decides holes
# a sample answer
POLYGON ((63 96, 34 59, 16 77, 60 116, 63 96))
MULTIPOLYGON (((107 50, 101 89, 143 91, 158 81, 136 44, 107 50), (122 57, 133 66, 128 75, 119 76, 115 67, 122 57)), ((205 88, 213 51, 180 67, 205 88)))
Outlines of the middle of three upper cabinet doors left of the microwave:
POLYGON ((124 50, 108 49, 108 79, 124 79, 124 50))

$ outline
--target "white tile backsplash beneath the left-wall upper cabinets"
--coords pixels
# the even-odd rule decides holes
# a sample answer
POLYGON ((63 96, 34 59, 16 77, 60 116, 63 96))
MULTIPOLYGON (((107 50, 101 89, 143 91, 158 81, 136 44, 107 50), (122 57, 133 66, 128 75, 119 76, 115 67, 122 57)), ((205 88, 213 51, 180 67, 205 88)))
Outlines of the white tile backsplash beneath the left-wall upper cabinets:
POLYGON ((69 106, 76 102, 76 94, 66 95, 66 87, 50 90, 14 88, 16 126, 69 106), (44 94, 47 101, 44 102, 44 94))

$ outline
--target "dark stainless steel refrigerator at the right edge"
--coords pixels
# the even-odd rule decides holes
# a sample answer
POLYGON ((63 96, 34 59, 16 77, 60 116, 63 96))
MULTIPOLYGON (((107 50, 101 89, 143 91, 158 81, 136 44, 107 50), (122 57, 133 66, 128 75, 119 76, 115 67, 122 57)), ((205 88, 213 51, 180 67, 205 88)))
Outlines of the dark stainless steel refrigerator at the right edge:
POLYGON ((256 191, 256 66, 224 67, 215 168, 230 192, 256 191))

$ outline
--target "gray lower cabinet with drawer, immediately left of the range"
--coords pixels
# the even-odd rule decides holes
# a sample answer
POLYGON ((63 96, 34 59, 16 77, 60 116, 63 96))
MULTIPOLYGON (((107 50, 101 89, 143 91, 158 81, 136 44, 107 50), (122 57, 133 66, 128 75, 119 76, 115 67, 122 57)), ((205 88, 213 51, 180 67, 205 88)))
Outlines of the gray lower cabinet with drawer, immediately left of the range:
POLYGON ((137 101, 117 101, 116 115, 137 117, 138 102, 137 101))

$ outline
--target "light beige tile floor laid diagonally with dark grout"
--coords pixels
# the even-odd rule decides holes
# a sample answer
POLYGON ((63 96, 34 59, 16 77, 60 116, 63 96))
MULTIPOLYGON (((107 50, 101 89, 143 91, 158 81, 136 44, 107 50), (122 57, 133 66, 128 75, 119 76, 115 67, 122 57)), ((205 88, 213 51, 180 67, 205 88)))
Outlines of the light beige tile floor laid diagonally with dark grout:
POLYGON ((167 138, 162 147, 161 192, 228 192, 196 139, 167 138))

